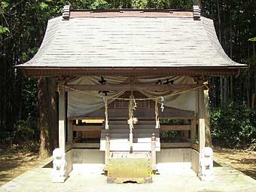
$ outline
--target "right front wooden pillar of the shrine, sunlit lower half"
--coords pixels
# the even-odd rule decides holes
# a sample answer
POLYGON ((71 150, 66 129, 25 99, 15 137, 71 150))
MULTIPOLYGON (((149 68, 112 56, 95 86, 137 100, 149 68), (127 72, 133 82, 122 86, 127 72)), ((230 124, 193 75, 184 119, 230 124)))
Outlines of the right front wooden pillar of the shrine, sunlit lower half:
POLYGON ((204 102, 204 87, 198 90, 198 118, 199 118, 199 152, 203 151, 206 142, 206 123, 205 123, 205 111, 206 106, 204 102))

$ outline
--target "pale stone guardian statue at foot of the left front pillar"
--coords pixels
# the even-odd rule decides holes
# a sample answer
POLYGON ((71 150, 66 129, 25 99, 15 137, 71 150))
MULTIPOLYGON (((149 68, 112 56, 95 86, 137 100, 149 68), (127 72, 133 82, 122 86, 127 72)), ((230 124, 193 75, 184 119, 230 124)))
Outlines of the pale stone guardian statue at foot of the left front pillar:
POLYGON ((52 174, 52 182, 53 183, 63 183, 66 181, 68 176, 66 175, 66 155, 60 149, 56 148, 53 150, 53 174, 52 174))

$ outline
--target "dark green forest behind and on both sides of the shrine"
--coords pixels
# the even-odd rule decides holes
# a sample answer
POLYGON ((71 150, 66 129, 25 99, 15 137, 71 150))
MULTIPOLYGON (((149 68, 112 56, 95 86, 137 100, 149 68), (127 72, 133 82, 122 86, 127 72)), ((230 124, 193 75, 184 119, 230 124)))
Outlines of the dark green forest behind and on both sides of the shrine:
MULTIPOLYGON (((248 65, 236 77, 210 78, 211 129, 214 145, 251 148, 256 145, 256 1, 254 0, 29 0, 0 2, 0 144, 29 142, 41 137, 39 111, 47 97, 47 79, 24 78, 14 66, 38 50, 47 20, 74 9, 151 8, 191 10, 199 4, 214 20, 219 41, 233 60, 248 65), (38 87, 41 91, 38 92, 38 87), (44 87, 44 89, 42 89, 44 87)), ((203 50, 202 50, 203 51, 203 50)), ((56 94, 56 93, 53 93, 56 94)), ((56 113, 55 113, 56 114, 56 113)), ((47 120, 46 120, 47 121, 47 120)), ((50 126, 54 126, 51 124, 50 126)))

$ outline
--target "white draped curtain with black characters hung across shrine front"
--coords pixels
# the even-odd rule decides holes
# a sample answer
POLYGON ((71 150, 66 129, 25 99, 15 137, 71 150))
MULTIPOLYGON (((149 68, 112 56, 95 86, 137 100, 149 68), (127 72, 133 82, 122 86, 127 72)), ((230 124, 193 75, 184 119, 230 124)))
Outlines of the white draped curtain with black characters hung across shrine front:
MULTIPOLYGON (((69 84, 120 84, 127 81, 124 77, 110 77, 110 76, 85 76, 69 84)), ((127 81, 127 84, 130 81, 127 81)), ((135 83, 145 83, 145 84, 194 84, 193 78, 190 77, 145 77, 137 78, 135 83)), ((163 104, 171 107, 178 108, 181 110, 197 111, 196 106, 196 91, 192 90, 186 93, 181 93, 175 96, 170 96, 171 94, 180 93, 180 91, 154 91, 145 90, 141 91, 147 97, 163 96, 163 104)), ((121 96, 125 91, 109 91, 107 93, 108 97, 117 98, 121 96)), ((83 93, 80 91, 69 91, 68 93, 68 117, 78 117, 85 114, 97 111, 103 108, 105 105, 104 100, 99 96, 105 96, 105 93, 99 91, 87 91, 84 90, 83 93)), ((113 102, 113 99, 108 99, 108 103, 113 102)), ((160 100, 159 100, 160 102, 160 100)), ((127 109, 128 110, 128 109, 127 109)))

